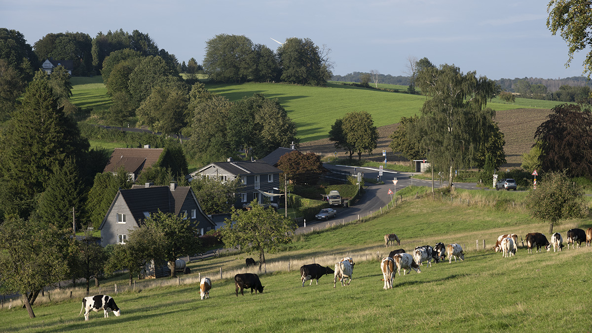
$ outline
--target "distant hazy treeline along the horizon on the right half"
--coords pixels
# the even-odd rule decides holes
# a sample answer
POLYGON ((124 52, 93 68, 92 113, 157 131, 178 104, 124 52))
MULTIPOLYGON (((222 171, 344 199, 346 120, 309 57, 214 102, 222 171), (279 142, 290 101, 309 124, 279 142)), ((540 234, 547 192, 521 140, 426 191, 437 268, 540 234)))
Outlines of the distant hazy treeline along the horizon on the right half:
MULTIPOLYGON (((332 81, 342 82, 361 82, 361 76, 367 72, 352 72, 347 75, 333 75, 332 81)), ((503 91, 519 92, 516 89, 516 84, 519 81, 527 81, 532 85, 542 84, 547 87, 546 92, 556 92, 561 86, 568 85, 571 87, 592 87, 592 81, 588 81, 584 76, 572 76, 564 79, 542 79, 542 78, 514 78, 514 79, 499 79, 496 83, 500 85, 503 91)), ((409 76, 392 76, 379 74, 378 83, 381 84, 396 84, 408 85, 409 76)))

